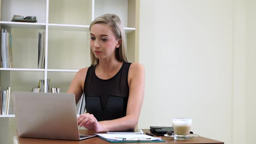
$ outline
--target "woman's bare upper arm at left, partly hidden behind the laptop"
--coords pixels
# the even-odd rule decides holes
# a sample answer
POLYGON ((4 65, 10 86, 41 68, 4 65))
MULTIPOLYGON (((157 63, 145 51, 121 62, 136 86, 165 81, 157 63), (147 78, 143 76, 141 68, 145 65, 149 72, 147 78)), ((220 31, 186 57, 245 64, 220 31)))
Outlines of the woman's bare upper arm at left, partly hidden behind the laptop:
POLYGON ((67 93, 73 93, 75 95, 75 104, 78 103, 83 93, 83 86, 88 68, 80 69, 72 80, 67 93))

